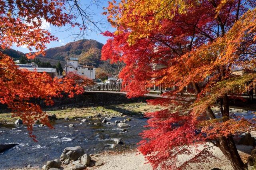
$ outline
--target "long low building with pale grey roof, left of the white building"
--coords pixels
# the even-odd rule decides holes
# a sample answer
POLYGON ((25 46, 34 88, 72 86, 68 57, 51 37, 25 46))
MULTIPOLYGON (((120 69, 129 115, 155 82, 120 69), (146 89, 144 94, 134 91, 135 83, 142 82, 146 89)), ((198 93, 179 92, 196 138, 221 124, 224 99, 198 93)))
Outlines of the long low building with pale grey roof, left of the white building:
POLYGON ((31 64, 16 64, 19 66, 19 69, 27 69, 28 71, 36 71, 38 73, 43 73, 46 72, 49 74, 52 78, 56 77, 57 71, 55 68, 42 68, 42 67, 37 67, 35 63, 31 64))

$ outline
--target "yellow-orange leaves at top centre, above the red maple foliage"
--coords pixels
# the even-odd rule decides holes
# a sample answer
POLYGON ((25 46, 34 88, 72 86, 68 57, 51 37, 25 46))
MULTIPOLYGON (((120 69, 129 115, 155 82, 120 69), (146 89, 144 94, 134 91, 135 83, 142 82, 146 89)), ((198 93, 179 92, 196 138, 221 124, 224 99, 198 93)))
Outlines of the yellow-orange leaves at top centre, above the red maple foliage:
MULTIPOLYGON (((188 8, 198 3, 188 0, 127 0, 118 5, 109 2, 108 18, 113 26, 118 24, 133 30, 129 43, 133 44, 140 38, 145 38, 149 32, 159 29, 159 22, 171 19, 176 13, 186 14, 188 8)), ((118 33, 118 29, 116 31, 118 33)))

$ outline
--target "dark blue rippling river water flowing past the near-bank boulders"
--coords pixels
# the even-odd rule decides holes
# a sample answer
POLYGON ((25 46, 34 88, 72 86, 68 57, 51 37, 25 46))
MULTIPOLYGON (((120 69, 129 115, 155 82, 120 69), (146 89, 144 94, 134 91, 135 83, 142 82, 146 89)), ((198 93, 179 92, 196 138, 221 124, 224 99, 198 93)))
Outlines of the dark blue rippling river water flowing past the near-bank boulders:
MULTIPOLYGON (((112 118, 111 122, 124 119, 112 118)), ((55 129, 35 125, 33 134, 37 136, 38 142, 28 137, 28 131, 23 125, 2 125, 0 126, 0 143, 19 145, 0 154, 0 169, 21 168, 28 164, 42 167, 46 161, 59 158, 64 148, 72 146, 81 146, 88 154, 104 150, 123 150, 127 147, 135 148, 136 143, 141 140, 138 134, 145 129, 146 119, 131 119, 132 121, 126 122, 131 126, 126 128, 127 132, 122 132, 124 128, 117 125, 106 125, 96 120, 89 120, 82 124, 80 120, 58 120, 52 122, 55 129), (70 123, 74 124, 74 127, 64 127, 70 123), (12 130, 14 127, 18 128, 12 130), (113 138, 121 138, 126 146, 116 145, 113 138)))

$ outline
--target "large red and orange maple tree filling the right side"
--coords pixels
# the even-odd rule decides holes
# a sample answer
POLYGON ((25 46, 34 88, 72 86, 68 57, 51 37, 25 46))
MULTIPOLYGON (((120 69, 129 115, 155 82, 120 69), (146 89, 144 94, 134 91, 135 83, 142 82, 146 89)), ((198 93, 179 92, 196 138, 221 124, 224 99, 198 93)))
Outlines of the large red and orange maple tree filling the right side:
POLYGON ((207 161, 210 142, 234 169, 243 169, 233 135, 255 128, 255 119, 232 115, 229 101, 255 85, 255 7, 251 0, 109 2, 104 14, 116 31, 104 33, 110 38, 102 59, 126 64, 119 76, 128 97, 143 95, 152 85, 177 87, 164 93, 166 98, 149 101, 168 107, 147 113, 150 129, 141 134, 138 149, 154 168, 207 161), (236 67, 244 74, 233 74, 236 67), (245 89, 232 92, 244 83, 245 89), (188 87, 195 98, 179 95, 188 87), (211 109, 216 106, 218 115, 211 109), (178 160, 200 144, 204 149, 190 160, 178 160))

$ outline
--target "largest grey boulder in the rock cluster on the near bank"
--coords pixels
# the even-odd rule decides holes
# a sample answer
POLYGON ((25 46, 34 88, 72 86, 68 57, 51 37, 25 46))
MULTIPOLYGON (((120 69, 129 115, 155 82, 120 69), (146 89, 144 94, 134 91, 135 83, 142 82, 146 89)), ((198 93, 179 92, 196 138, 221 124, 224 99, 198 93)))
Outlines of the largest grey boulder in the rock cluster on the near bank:
POLYGON ((77 160, 80 156, 84 155, 84 150, 81 146, 67 147, 62 152, 60 158, 77 160))

